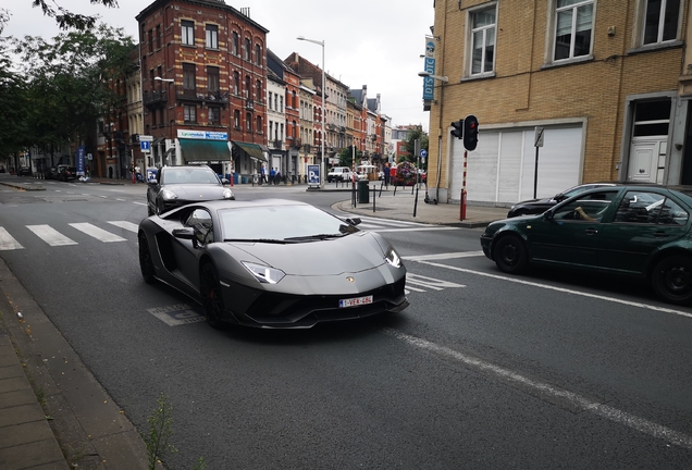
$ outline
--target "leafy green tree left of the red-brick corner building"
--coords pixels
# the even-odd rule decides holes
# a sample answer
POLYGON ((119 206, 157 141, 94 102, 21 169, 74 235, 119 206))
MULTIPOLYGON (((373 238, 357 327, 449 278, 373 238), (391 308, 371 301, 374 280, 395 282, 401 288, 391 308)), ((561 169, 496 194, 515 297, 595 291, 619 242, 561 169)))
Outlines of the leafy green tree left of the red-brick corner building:
MULTIPOLYGON (((25 129, 23 145, 53 149, 83 141, 100 116, 123 103, 118 92, 123 89, 114 85, 133 72, 133 48, 122 29, 107 25, 51 40, 13 39, 11 52, 20 59, 18 71, 8 73, 24 85, 25 101, 17 108, 25 129)), ((10 61, 7 54, 0 59, 10 61)))

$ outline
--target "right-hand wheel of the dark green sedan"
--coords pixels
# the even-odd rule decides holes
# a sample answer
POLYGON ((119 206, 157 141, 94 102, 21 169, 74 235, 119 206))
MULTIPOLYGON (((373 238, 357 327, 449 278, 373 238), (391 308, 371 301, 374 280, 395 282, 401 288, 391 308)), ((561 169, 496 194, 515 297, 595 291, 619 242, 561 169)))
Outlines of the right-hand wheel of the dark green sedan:
POLYGON ((692 301, 692 257, 669 256, 662 259, 652 275, 654 290, 664 300, 687 305, 692 301))

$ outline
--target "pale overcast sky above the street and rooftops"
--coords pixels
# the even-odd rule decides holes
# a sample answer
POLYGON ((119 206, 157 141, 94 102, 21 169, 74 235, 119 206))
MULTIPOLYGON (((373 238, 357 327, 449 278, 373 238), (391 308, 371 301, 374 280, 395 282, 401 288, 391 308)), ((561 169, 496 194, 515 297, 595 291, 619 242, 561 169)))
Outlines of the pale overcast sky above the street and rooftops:
MULTIPOLYGON (((135 16, 148 4, 140 0, 119 0, 119 9, 90 5, 88 0, 57 0, 73 13, 99 14, 106 23, 122 27, 135 40, 135 16)), ((50 0, 49 0, 50 3, 50 0)), ((382 112, 392 125, 422 124, 423 70, 420 55, 433 24, 433 0, 226 0, 236 10, 250 8, 250 18, 267 29, 269 48, 281 59, 292 52, 321 65, 322 48, 297 36, 324 40, 326 72, 349 88, 368 86, 368 96, 380 94, 382 112)), ((53 18, 44 17, 30 0, 3 2, 10 23, 3 36, 44 36, 60 32, 53 18)))

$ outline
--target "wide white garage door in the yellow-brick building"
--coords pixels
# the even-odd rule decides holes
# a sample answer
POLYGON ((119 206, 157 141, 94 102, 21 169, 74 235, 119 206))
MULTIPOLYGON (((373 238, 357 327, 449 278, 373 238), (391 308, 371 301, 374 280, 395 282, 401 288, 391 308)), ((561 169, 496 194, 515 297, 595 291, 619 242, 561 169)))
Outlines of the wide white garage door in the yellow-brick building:
MULTIPOLYGON (((479 135, 467 162, 467 201, 515 203, 533 198, 534 129, 490 131, 479 135)), ((582 128, 545 127, 539 149, 537 197, 553 196, 578 185, 582 168, 582 128)), ((449 198, 458 201, 464 182, 464 145, 452 143, 449 198)))

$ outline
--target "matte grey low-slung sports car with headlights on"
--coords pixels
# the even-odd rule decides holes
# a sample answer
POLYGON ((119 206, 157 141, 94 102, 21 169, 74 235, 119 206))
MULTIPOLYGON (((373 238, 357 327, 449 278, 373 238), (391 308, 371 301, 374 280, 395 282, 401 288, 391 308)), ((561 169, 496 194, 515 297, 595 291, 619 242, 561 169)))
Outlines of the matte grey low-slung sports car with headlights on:
POLYGON ((304 329, 399 312, 409 305, 401 258, 358 223, 298 201, 193 203, 140 222, 139 267, 145 282, 198 299, 213 327, 304 329))

